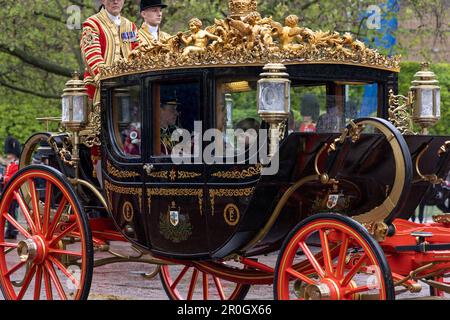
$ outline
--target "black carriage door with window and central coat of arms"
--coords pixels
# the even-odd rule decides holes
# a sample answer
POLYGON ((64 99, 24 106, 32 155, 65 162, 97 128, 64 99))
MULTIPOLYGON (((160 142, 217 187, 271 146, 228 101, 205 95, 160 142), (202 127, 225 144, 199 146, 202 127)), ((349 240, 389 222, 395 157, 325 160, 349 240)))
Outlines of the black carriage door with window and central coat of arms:
POLYGON ((194 161, 194 151, 201 150, 194 126, 202 127, 204 83, 198 72, 147 79, 146 123, 152 133, 144 165, 146 206, 149 240, 161 254, 208 254, 204 165, 194 161))

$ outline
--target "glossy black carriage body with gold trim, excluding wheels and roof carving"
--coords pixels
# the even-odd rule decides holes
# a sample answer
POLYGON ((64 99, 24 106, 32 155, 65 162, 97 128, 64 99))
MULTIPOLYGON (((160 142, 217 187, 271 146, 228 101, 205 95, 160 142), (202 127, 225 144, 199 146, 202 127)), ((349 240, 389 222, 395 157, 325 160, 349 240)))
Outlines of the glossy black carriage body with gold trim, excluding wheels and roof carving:
MULTIPOLYGON (((344 96, 345 83, 374 84, 378 91, 376 116, 381 118, 387 118, 389 90, 397 91, 395 72, 332 64, 288 65, 287 69, 293 84, 323 85, 327 94, 344 96)), ((274 176, 261 177, 254 164, 174 164, 168 156, 154 155, 159 144, 154 130, 158 116, 155 110, 166 98, 163 86, 170 89, 172 83, 183 84, 177 87, 177 98, 190 101, 188 121, 201 120, 202 129, 206 130, 217 126, 215 106, 220 97, 216 88, 221 79, 258 79, 261 72, 262 66, 180 69, 102 82, 102 187, 117 227, 132 243, 156 255, 176 259, 223 258, 236 252, 261 254, 279 249, 286 234, 303 218, 327 211, 320 200, 327 197, 329 190, 320 183, 307 184, 289 199, 263 239, 247 246, 266 227, 284 192, 302 177, 315 174, 317 152, 324 143, 339 137, 339 133, 290 134, 281 143, 280 170, 274 176), (140 106, 138 155, 124 154, 114 128, 121 125, 114 120, 118 117, 113 107, 115 92, 130 87, 136 89, 135 100, 140 106)), ((356 149, 341 150, 341 158, 323 164, 343 181, 339 191, 346 194, 347 203, 339 204, 338 209, 347 215, 357 215, 379 205, 393 181, 390 169, 393 159, 386 152, 383 137, 373 134, 362 140, 356 149)), ((406 141, 414 160, 424 145, 431 146, 434 152, 444 140, 444 137, 411 136, 406 141)), ((436 161, 424 161, 423 172, 436 172, 436 161)), ((439 165, 440 171, 448 171, 448 161, 439 165)), ((404 195, 408 200, 391 217, 411 215, 428 186, 417 181, 412 192, 404 195)))

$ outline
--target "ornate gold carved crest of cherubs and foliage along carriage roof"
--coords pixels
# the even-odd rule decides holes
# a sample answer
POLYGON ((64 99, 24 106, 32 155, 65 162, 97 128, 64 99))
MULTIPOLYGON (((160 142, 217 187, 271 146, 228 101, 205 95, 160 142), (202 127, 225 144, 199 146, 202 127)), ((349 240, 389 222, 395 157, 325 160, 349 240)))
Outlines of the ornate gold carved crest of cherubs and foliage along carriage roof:
MULTIPOLYGON (((234 5, 238 8, 239 2, 234 5)), ((256 11, 250 11, 242 17, 215 19, 215 23, 204 30, 192 29, 171 37, 166 43, 140 46, 128 59, 102 68, 101 79, 151 70, 267 63, 331 63, 400 70, 399 56, 387 57, 366 48, 348 33, 341 36, 337 32, 314 32, 297 26, 298 18, 293 15, 286 19, 283 27, 272 18, 262 18, 256 11), (183 38, 191 38, 191 41, 183 41, 183 38), (208 45, 210 40, 214 42, 208 45)), ((198 26, 198 21, 196 23, 198 26)))

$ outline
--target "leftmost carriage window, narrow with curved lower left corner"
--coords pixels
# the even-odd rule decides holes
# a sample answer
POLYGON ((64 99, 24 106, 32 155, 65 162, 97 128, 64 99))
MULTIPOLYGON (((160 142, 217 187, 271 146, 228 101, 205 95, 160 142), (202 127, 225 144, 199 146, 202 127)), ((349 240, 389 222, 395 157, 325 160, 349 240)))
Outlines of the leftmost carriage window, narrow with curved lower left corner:
POLYGON ((126 156, 140 156, 142 113, 139 85, 113 90, 112 117, 119 150, 126 156))

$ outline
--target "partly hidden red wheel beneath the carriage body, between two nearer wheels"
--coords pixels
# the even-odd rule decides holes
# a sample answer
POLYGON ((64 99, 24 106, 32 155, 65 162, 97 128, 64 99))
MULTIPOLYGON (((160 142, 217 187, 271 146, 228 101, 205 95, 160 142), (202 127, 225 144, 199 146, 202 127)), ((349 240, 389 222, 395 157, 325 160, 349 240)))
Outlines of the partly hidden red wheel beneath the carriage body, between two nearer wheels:
POLYGON ((161 282, 172 300, 243 300, 250 289, 203 272, 193 265, 161 267, 161 282))

